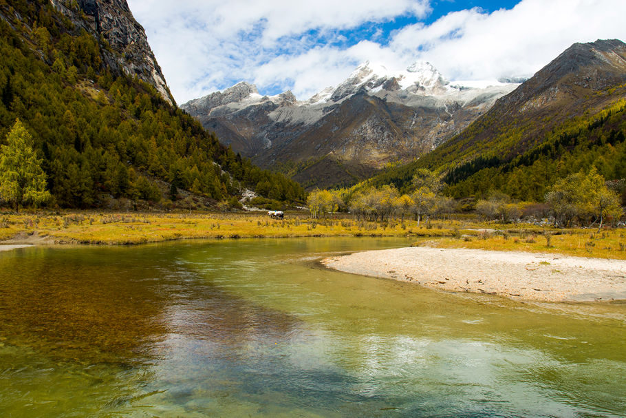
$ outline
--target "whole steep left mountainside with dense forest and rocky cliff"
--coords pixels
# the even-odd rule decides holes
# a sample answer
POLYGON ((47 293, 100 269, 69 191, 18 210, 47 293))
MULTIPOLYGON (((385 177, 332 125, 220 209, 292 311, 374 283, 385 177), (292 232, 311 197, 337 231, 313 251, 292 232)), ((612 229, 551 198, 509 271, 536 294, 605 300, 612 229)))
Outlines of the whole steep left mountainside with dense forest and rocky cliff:
POLYGON ((0 4, 0 34, 0 141, 16 118, 27 127, 50 205, 235 205, 243 187, 303 198, 171 104, 125 1, 0 4))

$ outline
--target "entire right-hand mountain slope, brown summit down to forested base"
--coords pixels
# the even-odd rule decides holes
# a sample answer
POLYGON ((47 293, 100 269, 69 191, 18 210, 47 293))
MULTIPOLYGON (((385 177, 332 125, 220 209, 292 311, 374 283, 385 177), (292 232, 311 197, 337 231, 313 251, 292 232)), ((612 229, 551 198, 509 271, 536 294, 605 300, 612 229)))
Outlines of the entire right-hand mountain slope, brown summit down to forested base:
POLYGON ((441 171, 456 197, 501 189, 542 200, 546 186, 596 166, 626 177, 626 44, 576 43, 418 162, 372 181, 404 187, 418 167, 441 171))

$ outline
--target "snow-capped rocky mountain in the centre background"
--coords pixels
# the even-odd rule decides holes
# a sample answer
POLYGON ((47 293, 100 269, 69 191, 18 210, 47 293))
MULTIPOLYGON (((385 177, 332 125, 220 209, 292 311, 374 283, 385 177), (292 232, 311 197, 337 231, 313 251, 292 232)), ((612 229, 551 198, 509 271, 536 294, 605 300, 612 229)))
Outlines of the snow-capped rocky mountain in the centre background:
MULTIPOLYGON (((475 83, 475 82, 474 82, 475 83)), ((263 167, 293 166, 307 186, 345 184, 409 160, 459 133, 517 84, 451 83, 430 63, 365 62, 306 101, 238 83, 181 108, 263 167)))

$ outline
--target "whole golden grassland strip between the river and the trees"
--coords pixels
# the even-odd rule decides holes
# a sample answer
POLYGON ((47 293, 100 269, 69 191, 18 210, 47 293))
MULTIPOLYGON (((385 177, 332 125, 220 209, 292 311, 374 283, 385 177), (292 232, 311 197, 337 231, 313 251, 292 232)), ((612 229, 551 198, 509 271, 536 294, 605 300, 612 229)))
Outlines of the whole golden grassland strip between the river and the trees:
MULTIPOLYGON (((429 245, 501 251, 561 253, 626 260, 626 229, 568 229, 477 222, 474 218, 422 222, 367 222, 349 216, 310 219, 306 212, 272 220, 256 213, 108 213, 61 211, 0 213, 0 242, 142 244, 195 238, 406 236, 437 238, 429 245)), ((416 242, 424 244, 424 240, 416 242)))

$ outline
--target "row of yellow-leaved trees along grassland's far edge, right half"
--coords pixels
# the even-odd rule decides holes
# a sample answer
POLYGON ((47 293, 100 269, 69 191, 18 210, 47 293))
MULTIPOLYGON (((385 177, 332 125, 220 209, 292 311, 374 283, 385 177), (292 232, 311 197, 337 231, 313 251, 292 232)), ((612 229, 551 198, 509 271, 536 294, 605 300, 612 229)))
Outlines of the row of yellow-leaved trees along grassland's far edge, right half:
POLYGON ((390 218, 403 222, 406 216, 411 216, 419 225, 424 218, 448 218, 452 213, 472 210, 482 220, 502 223, 550 218, 557 227, 575 224, 602 227, 607 222, 616 225, 623 218, 620 191, 625 188, 625 180, 606 181, 592 167, 586 173, 579 171, 548 187, 543 205, 520 202, 498 190, 490 191, 486 198, 470 200, 467 205, 467 200, 443 193, 446 185, 440 175, 429 169, 417 169, 407 193, 401 193, 394 185, 316 189, 307 197, 307 206, 312 218, 345 211, 359 220, 380 222, 390 218))

